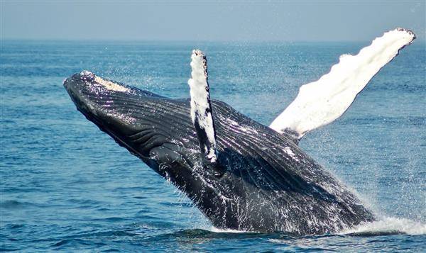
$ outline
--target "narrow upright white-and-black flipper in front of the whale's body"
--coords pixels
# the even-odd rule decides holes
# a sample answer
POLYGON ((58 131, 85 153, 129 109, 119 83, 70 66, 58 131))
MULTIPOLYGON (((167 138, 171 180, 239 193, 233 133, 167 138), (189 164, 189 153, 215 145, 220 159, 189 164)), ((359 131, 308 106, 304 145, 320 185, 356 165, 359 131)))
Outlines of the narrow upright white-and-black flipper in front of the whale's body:
POLYGON ((192 123, 200 142, 203 164, 207 167, 217 167, 216 132, 207 81, 207 59, 202 51, 193 50, 191 60, 192 72, 188 84, 192 123))

